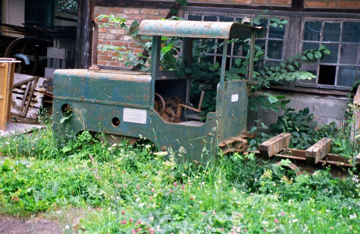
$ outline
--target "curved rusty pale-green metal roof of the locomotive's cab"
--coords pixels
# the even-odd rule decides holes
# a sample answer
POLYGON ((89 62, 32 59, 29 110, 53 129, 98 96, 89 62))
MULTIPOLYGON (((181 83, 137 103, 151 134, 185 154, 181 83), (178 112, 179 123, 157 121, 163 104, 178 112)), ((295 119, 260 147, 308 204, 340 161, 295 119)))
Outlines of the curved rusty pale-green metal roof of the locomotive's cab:
POLYGON ((139 33, 144 35, 195 38, 247 39, 251 37, 251 30, 255 30, 256 38, 265 37, 264 28, 235 22, 143 20, 139 26, 139 33))

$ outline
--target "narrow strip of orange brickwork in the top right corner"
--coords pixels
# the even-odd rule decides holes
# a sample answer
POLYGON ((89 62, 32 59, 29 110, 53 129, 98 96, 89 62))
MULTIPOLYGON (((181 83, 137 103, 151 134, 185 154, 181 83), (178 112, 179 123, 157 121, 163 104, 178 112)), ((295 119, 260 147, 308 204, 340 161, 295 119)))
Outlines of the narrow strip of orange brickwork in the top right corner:
POLYGON ((305 0, 305 8, 360 9, 359 0, 305 0))

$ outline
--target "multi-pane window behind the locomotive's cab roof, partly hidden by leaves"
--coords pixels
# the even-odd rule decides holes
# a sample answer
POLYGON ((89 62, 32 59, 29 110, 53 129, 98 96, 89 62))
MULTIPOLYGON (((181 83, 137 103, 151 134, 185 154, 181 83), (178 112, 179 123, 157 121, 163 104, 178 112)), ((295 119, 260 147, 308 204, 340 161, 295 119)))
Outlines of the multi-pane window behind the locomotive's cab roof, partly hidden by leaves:
MULTIPOLYGON (((241 22, 243 17, 247 15, 234 15, 232 16, 221 16, 221 15, 193 15, 188 14, 188 20, 197 20, 197 21, 212 21, 212 22, 241 22)), ((279 17, 280 18, 280 17, 279 17)), ((284 18, 284 17, 283 17, 284 18)), ((289 20, 287 18, 287 20, 289 20)), ((264 27, 266 32, 266 38, 257 39, 255 41, 255 45, 259 46, 262 51, 265 53, 266 59, 262 59, 256 62, 255 66, 259 67, 264 64, 264 62, 274 63, 278 61, 282 61, 283 52, 284 52, 284 40, 285 34, 287 33, 287 27, 272 27, 269 25, 269 21, 266 19, 262 19, 260 21, 260 25, 253 24, 253 26, 261 26, 264 27)), ((196 40, 194 43, 202 43, 204 40, 196 40)), ((207 45, 214 45, 215 43, 223 42, 223 39, 213 39, 207 40, 207 45)), ((243 42, 233 42, 231 45, 228 45, 228 51, 226 56, 226 69, 230 69, 234 65, 235 58, 246 58, 248 53, 248 48, 244 48, 243 42)), ((222 47, 215 48, 207 53, 208 57, 206 58, 208 62, 219 62, 221 64, 222 60, 222 47)))

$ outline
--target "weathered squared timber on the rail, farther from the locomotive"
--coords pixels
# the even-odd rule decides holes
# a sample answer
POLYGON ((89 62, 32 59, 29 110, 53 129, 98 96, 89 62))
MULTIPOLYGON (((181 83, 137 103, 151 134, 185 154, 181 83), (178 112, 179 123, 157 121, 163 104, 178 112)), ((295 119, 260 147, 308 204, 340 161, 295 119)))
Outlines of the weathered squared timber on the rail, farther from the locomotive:
POLYGON ((324 137, 305 151, 306 162, 315 164, 318 163, 325 157, 325 155, 330 153, 330 149, 331 138, 324 137))

